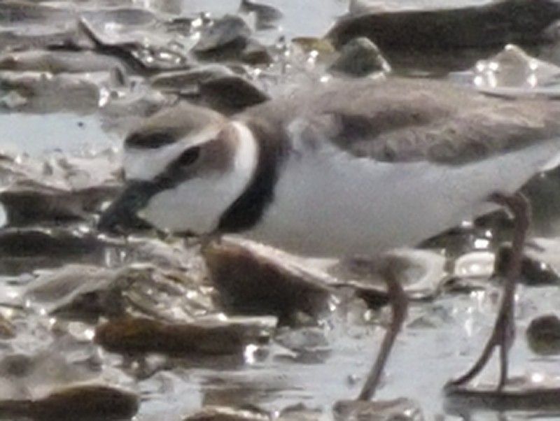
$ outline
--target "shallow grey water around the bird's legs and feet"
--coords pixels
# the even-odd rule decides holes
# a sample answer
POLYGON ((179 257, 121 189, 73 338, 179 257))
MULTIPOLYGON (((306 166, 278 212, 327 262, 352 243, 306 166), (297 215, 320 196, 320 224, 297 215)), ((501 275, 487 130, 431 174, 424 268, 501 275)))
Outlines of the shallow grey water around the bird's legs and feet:
MULTIPOLYGON (((554 293, 555 299, 549 299, 549 303, 557 303, 560 299, 555 288, 554 293)), ((534 357, 523 340, 528 317, 542 313, 538 302, 548 294, 545 291, 531 294, 532 297, 527 297, 526 292, 523 294, 524 299, 519 306, 531 307, 531 311, 524 311, 519 320, 519 340, 511 352, 512 374, 537 371, 558 375, 560 370, 555 367, 560 357, 534 357)), ((491 314, 496 310, 495 305, 486 308, 489 306, 486 301, 487 297, 453 297, 439 299, 434 304, 412 306, 407 324, 430 318, 431 326, 405 328, 395 345, 384 386, 377 398, 415 399, 421 404, 426 420, 449 416, 445 415, 443 407, 442 386, 472 364, 486 341, 493 321, 491 314)), ((169 377, 175 380, 172 384, 176 388, 167 389, 165 399, 176 402, 172 413, 177 415, 193 411, 202 400, 205 404, 255 404, 272 411, 304 403, 310 408, 323 409, 328 418, 335 401, 352 399, 358 394, 382 334, 379 327, 357 326, 347 320, 337 320, 327 334, 328 355, 318 357, 317 361, 297 362, 290 357, 290 352, 276 350, 273 357, 237 369, 220 370, 218 373, 191 369, 188 374, 175 370, 160 373, 150 383, 172 381, 169 377), (282 357, 286 353, 288 355, 282 357), (181 384, 180 379, 185 379, 185 376, 190 384, 181 384)), ((483 378, 495 381, 497 373, 497 362, 494 362, 483 378)), ((155 385, 148 386, 146 383, 145 387, 151 390, 155 385)), ((144 415, 139 415, 140 420, 152 420, 162 413, 169 415, 169 408, 166 408, 165 402, 146 402, 142 413, 144 415)), ((519 412, 501 416, 505 418, 500 419, 532 418, 529 413, 519 412)), ((475 420, 495 420, 498 414, 477 413, 473 417, 475 420)))

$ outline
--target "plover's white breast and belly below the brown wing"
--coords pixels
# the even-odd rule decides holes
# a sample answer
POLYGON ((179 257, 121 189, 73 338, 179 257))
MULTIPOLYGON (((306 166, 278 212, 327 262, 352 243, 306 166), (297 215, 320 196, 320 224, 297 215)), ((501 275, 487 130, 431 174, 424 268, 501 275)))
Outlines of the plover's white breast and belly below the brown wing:
POLYGON ((548 141, 460 166, 372 162, 330 145, 298 151, 283 167, 262 222, 247 236, 312 256, 415 245, 488 211, 489 194, 518 190, 559 151, 559 141, 548 141))

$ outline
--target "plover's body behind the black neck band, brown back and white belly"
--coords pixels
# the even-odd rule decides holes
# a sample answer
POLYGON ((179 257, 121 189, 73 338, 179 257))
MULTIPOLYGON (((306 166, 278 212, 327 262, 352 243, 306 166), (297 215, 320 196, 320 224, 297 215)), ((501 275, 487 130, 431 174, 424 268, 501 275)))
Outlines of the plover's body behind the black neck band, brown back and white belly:
POLYGON ((307 255, 415 243, 488 208, 560 152, 560 105, 429 80, 300 92, 243 116, 288 127, 274 201, 247 234, 307 255))

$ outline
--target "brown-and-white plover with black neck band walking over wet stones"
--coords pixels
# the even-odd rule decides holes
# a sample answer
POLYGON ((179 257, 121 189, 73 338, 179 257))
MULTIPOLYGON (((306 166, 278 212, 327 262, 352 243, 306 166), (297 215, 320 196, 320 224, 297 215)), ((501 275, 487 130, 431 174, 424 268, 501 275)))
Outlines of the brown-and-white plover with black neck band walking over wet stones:
MULTIPOLYGON (((225 117, 177 104, 125 140, 127 185, 102 215, 177 234, 242 234, 313 256, 377 255, 496 208, 518 220, 500 313, 463 385, 500 348, 507 378, 515 275, 527 224, 519 187, 556 161, 560 104, 491 98, 434 80, 332 81, 225 117)), ((395 320, 360 399, 369 399, 404 319, 395 320)))

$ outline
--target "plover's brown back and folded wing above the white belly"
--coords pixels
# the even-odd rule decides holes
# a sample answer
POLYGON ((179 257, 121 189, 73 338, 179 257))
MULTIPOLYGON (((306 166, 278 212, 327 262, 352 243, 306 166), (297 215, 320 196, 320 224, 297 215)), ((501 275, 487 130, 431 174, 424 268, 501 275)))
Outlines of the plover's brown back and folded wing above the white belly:
POLYGON ((286 112, 307 117, 309 138, 384 162, 456 165, 560 137, 560 102, 498 99, 433 80, 333 85, 286 112))

